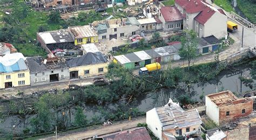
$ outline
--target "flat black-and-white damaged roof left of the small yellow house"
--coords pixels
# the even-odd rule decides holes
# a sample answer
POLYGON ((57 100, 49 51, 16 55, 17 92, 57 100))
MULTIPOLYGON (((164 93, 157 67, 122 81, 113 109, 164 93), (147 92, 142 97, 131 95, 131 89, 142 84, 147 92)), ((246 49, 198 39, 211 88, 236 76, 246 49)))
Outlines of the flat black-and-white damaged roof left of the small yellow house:
POLYGON ((45 44, 71 43, 74 41, 68 29, 39 32, 37 34, 45 44))

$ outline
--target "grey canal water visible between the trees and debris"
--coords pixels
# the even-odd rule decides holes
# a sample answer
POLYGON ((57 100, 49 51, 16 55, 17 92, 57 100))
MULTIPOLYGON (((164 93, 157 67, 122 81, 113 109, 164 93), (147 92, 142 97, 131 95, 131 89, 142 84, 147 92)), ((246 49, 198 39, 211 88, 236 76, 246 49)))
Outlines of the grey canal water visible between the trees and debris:
MULTIPOLYGON (((219 76, 213 80, 204 83, 196 83, 191 85, 191 91, 194 93, 192 99, 195 101, 201 102, 199 96, 201 94, 207 95, 211 93, 216 93, 216 91, 220 90, 231 90, 235 95, 242 97, 243 94, 251 89, 246 87, 244 84, 241 83, 239 76, 250 77, 250 69, 242 68, 240 69, 242 72, 231 72, 231 71, 224 71, 219 74, 219 76), (218 86, 217 86, 218 81, 218 86), (218 88, 218 89, 217 89, 218 88), (241 93, 242 94, 241 94, 241 93)), ((255 84, 255 81, 254 81, 255 84)), ((180 86, 184 86, 180 83, 180 86)), ((130 104, 132 108, 138 108, 139 111, 148 111, 154 107, 164 106, 169 98, 175 101, 175 98, 178 94, 184 94, 179 89, 158 89, 156 92, 152 92, 147 94, 145 97, 141 97, 136 101, 133 101, 130 104)), ((107 108, 116 108, 118 104, 107 104, 107 108)), ((71 109, 71 122, 74 120, 73 114, 75 113, 75 109, 71 109)), ((85 107, 85 115, 87 116, 88 120, 91 120, 93 116, 100 116, 100 111, 94 105, 89 105, 85 107)), ((28 127, 29 120, 26 120, 25 127, 28 127)), ((104 121, 104 120, 103 120, 104 121)), ((18 116, 10 116, 8 117, 3 123, 0 124, 0 130, 2 131, 9 131, 15 133, 22 133, 22 130, 25 128, 24 124, 18 116), (15 125, 15 128, 13 127, 15 125)))

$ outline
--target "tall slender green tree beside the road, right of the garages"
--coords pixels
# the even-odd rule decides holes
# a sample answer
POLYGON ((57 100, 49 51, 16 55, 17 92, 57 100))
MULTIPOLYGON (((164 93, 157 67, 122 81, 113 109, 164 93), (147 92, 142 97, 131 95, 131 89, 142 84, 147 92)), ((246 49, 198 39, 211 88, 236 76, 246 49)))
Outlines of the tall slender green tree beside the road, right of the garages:
POLYGON ((198 38, 193 30, 185 31, 186 34, 181 38, 180 57, 187 59, 188 71, 190 71, 191 60, 197 55, 198 38))

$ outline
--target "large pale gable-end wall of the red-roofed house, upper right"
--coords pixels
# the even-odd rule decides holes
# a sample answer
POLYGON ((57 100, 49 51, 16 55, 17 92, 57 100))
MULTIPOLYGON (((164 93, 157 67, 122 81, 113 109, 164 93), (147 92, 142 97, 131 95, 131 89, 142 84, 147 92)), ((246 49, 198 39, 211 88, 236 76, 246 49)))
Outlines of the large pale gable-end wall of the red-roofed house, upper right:
POLYGON ((225 37, 227 35, 227 16, 220 12, 215 12, 205 23, 203 32, 203 37, 208 37, 211 35, 215 36, 216 38, 225 37))

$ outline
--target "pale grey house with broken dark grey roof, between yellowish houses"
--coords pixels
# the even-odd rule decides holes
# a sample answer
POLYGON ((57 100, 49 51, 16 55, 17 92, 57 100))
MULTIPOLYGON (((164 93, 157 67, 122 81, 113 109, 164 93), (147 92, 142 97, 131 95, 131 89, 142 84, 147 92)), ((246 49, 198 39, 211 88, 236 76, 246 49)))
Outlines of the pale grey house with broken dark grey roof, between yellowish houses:
POLYGON ((30 57, 26 59, 30 69, 31 86, 69 80, 69 67, 64 60, 30 57))

